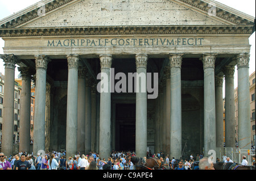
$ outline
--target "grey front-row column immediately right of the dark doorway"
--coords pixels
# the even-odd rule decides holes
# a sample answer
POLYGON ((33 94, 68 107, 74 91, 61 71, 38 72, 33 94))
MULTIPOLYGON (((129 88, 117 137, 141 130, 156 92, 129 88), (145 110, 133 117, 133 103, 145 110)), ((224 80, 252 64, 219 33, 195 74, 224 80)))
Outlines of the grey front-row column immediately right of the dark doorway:
POLYGON ((147 54, 136 54, 136 138, 137 157, 147 155, 147 54))

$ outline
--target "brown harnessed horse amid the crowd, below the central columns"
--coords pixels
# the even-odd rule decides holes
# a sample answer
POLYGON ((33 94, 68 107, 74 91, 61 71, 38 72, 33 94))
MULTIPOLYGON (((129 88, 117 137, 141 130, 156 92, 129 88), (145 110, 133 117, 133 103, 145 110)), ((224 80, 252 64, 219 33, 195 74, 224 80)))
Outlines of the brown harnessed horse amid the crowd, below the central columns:
POLYGON ((158 170, 161 165, 160 159, 156 158, 143 159, 139 157, 131 157, 131 162, 133 162, 136 170, 158 170))

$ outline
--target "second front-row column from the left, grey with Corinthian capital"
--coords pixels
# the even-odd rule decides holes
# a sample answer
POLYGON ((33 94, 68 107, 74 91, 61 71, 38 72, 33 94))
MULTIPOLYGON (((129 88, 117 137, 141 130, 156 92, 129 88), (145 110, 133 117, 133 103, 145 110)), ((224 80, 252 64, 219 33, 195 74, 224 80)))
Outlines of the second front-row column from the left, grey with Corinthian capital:
POLYGON ((46 73, 49 59, 45 55, 35 56, 36 87, 35 87, 35 121, 33 153, 45 150, 46 125, 46 73))

